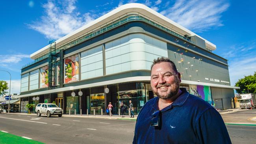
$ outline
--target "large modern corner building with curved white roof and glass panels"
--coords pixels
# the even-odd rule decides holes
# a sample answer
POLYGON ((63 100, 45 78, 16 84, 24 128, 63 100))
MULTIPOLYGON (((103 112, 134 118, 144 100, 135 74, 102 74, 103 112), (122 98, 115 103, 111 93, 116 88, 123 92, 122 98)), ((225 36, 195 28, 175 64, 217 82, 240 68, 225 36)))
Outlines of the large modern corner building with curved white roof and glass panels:
POLYGON ((64 113, 134 104, 135 114, 154 94, 150 66, 169 57, 191 94, 231 108, 228 62, 216 46, 143 4, 126 4, 31 54, 21 69, 21 107, 56 102, 64 113), (79 96, 80 95, 80 96, 79 96))

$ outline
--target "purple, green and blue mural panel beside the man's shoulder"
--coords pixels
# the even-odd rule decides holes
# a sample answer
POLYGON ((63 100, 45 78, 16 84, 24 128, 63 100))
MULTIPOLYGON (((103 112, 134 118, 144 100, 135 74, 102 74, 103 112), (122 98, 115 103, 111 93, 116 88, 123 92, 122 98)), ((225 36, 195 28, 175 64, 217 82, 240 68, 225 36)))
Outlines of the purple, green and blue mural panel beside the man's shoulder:
POLYGON ((205 101, 211 101, 211 88, 205 85, 189 85, 189 93, 205 101))

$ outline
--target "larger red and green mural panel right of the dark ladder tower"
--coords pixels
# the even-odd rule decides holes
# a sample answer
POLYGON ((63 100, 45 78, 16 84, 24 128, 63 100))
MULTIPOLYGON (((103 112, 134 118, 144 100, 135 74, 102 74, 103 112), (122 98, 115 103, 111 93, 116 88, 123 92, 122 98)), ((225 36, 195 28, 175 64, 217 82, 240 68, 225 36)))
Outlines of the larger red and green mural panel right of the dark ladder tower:
POLYGON ((65 81, 64 83, 72 83, 79 80, 79 57, 72 55, 64 60, 65 64, 65 81))

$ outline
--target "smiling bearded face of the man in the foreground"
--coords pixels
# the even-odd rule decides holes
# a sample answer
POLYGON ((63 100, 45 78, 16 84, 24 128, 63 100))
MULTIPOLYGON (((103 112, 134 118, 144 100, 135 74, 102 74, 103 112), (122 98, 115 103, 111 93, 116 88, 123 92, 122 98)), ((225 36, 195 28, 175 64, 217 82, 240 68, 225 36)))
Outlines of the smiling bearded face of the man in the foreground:
POLYGON ((169 62, 157 63, 151 70, 151 87, 159 98, 169 99, 178 93, 180 73, 176 74, 169 62))

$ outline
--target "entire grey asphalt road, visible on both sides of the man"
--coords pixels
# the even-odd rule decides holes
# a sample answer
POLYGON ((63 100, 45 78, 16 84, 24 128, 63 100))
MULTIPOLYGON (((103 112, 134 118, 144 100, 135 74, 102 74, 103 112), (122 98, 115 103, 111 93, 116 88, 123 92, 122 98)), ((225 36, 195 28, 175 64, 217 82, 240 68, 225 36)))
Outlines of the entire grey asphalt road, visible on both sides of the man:
MULTIPOLYGON (((254 124, 226 127, 233 144, 256 144, 256 122, 249 120, 256 109, 221 116, 225 123, 254 124)), ((47 144, 131 144, 134 126, 135 120, 0 114, 0 131, 47 144)))

